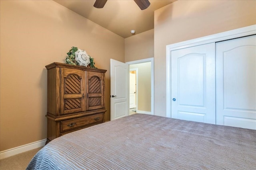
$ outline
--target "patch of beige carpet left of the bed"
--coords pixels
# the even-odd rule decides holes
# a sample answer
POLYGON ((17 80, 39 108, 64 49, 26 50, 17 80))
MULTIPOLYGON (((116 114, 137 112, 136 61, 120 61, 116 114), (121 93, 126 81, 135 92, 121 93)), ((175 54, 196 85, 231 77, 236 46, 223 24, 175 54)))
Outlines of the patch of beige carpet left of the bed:
POLYGON ((42 147, 0 160, 0 170, 25 170, 30 160, 42 147))

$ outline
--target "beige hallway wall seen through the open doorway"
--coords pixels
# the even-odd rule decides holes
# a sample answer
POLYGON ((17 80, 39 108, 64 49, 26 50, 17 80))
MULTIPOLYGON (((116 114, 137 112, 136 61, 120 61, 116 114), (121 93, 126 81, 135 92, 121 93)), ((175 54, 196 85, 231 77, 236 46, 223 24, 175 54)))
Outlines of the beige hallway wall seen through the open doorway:
POLYGON ((137 68, 138 106, 139 111, 151 112, 151 62, 130 64, 130 69, 137 68))

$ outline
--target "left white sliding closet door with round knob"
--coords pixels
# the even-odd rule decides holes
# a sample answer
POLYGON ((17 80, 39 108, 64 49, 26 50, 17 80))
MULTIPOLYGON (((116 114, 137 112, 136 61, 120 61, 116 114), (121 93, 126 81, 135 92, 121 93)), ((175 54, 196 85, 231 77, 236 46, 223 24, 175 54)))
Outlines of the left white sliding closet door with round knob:
POLYGON ((215 43, 171 51, 171 117, 216 123, 215 43))

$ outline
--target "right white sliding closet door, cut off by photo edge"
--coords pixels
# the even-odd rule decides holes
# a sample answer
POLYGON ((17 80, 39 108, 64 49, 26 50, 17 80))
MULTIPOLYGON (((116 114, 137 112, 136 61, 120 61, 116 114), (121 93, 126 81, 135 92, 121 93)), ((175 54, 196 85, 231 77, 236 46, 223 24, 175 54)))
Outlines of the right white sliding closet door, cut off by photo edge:
POLYGON ((216 43, 216 124, 256 129, 256 35, 216 43))

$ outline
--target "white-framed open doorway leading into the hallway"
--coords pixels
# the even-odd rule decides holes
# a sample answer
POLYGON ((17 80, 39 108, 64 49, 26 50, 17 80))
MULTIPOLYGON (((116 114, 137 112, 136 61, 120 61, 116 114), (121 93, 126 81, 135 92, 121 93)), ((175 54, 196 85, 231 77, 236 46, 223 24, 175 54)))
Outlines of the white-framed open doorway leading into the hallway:
POLYGON ((130 71, 129 115, 154 115, 154 58, 131 61, 127 64, 130 71))

